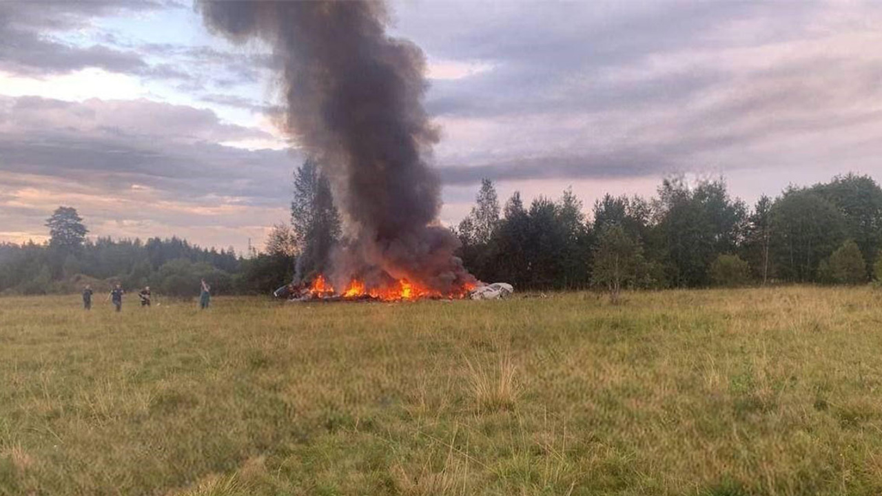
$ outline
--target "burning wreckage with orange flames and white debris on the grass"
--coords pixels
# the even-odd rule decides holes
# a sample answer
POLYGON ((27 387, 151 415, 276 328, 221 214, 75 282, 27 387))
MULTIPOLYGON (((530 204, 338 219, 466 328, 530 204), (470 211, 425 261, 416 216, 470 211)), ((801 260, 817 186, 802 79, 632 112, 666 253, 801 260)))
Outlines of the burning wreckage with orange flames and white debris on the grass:
POLYGON ((473 300, 496 300, 508 297, 514 292, 511 284, 506 282, 494 282, 485 284, 477 282, 463 287, 459 291, 443 293, 441 291, 427 289, 420 284, 407 282, 400 279, 391 286, 385 288, 366 288, 363 281, 353 280, 341 293, 335 291, 333 286, 318 275, 310 284, 295 284, 291 282, 273 291, 273 297, 284 298, 291 302, 335 302, 335 301, 415 301, 420 299, 473 299, 473 300))

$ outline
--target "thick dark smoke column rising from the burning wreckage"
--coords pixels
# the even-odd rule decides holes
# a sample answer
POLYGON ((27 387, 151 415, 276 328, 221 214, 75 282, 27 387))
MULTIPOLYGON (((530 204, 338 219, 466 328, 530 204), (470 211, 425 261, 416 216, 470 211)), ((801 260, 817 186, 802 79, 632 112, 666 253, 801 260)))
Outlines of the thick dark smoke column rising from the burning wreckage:
POLYGON ((379 267, 447 290, 472 282, 457 240, 432 224, 440 183, 424 157, 437 129, 422 107, 422 50, 385 34, 377 2, 199 2, 206 24, 260 38, 282 68, 291 136, 333 181, 349 242, 340 278, 379 267))

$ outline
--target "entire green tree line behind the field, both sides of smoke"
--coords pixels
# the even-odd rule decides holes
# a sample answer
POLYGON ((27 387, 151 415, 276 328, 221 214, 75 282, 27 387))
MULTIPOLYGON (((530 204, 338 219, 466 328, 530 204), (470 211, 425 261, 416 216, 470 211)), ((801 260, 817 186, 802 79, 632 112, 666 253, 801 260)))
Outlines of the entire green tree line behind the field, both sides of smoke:
MULTIPOLYGON (((193 296, 203 278, 221 294, 267 293, 324 272, 340 242, 340 214, 316 162, 295 170, 290 212, 264 250, 243 257, 178 237, 88 239, 77 211, 59 207, 47 222, 49 242, 0 244, 0 293, 120 282, 193 296)), ((729 195, 722 178, 689 184, 670 177, 653 198, 606 194, 589 215, 572 189, 528 205, 514 192, 502 205, 485 179, 475 207, 452 230, 475 276, 518 289, 594 287, 615 295, 624 288, 855 284, 882 276, 882 189, 855 174, 789 186, 752 207, 729 195)))

